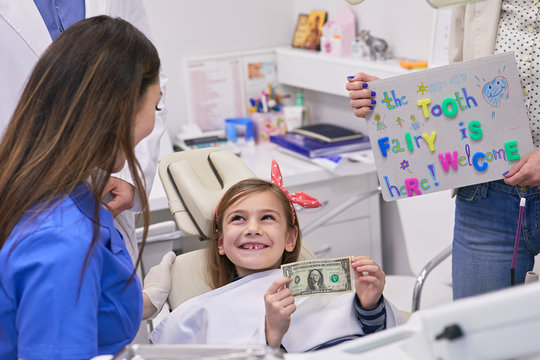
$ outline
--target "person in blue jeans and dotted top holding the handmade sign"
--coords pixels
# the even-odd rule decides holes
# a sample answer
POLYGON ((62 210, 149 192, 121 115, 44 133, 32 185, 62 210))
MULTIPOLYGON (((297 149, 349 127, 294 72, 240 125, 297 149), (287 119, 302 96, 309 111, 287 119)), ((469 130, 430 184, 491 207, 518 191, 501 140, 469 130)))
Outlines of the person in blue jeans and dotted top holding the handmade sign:
MULTIPOLYGON (((492 0, 461 5, 453 10, 449 56, 451 62, 513 51, 534 146, 540 145, 540 58, 534 57, 540 5, 533 1, 492 0)), ((366 74, 346 85, 351 107, 363 117, 375 106, 366 74)), ((519 95, 516 92, 514 96, 519 95)), ((498 99, 493 98, 493 101, 498 99)), ((493 106, 498 103, 492 104, 493 106)), ((514 108, 516 112, 522 111, 514 108)), ((513 121, 508 118, 509 122, 513 121)), ((515 121, 515 119, 514 119, 515 121)), ((535 215, 540 191, 540 150, 522 154, 501 179, 460 187, 456 191, 453 241, 454 298, 479 295, 523 283, 540 249, 540 219, 535 215), (523 241, 519 241, 522 237, 523 241)))

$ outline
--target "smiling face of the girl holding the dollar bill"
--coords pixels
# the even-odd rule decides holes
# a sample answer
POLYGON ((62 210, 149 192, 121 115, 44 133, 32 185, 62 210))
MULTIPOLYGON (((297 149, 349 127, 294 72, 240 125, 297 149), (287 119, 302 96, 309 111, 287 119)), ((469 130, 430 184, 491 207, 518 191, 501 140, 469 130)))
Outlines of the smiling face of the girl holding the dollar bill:
POLYGON ((297 229, 287 231, 283 207, 274 194, 251 194, 230 206, 223 216, 218 251, 235 265, 238 276, 276 269, 283 251, 296 245, 297 229))

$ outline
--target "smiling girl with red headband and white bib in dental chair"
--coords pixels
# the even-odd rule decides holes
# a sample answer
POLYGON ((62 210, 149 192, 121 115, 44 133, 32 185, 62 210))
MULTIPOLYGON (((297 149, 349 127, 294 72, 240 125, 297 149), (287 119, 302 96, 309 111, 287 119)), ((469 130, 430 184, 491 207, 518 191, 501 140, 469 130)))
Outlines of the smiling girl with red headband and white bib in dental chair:
MULTIPOLYGON (((292 204, 318 207, 320 203, 304 193, 289 194, 275 161, 272 182, 242 180, 223 195, 208 248, 206 273, 215 290, 176 308, 151 334, 154 344, 251 343, 302 352, 381 331, 401 321, 399 312, 382 296, 384 272, 366 256, 351 260, 355 292, 351 288, 324 300, 319 300, 324 295, 293 297, 286 285, 301 284, 304 272, 289 269, 292 275, 286 277, 280 270, 282 264, 305 265, 292 264, 301 248, 292 204)), ((324 261, 316 265, 321 277, 327 272, 324 261)), ((308 271, 305 273, 307 277, 308 271)), ((335 277, 336 273, 329 281, 338 282, 335 277)))

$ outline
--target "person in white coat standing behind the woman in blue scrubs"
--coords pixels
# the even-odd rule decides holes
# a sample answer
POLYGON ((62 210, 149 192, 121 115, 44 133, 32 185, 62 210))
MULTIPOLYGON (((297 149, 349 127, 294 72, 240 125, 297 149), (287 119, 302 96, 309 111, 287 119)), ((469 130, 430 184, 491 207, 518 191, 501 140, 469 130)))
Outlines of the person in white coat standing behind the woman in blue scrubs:
MULTIPOLYGON (((19 100, 24 84, 41 54, 51 42, 75 22, 96 15, 120 17, 149 36, 147 16, 142 0, 0 0, 0 135, 3 134, 19 100)), ((161 76, 165 93, 166 78, 161 76)), ((160 107, 163 107, 160 105, 160 107)), ((156 113, 152 133, 135 148, 150 194, 156 174, 159 143, 165 131, 165 111, 156 113)), ((115 224, 122 232, 133 262, 138 247, 135 216, 138 202, 134 199, 133 181, 127 166, 115 173, 106 193, 112 195, 109 206, 114 210, 115 224)))

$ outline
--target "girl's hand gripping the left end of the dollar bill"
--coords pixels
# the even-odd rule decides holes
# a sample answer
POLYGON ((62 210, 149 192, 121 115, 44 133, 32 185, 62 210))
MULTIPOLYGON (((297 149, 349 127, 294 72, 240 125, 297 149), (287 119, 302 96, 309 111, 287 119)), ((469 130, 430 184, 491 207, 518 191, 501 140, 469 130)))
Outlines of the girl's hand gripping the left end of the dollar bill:
POLYGON ((291 324, 291 314, 296 310, 292 292, 285 288, 285 284, 291 281, 288 277, 279 278, 264 294, 266 342, 273 348, 281 345, 281 340, 291 324))

